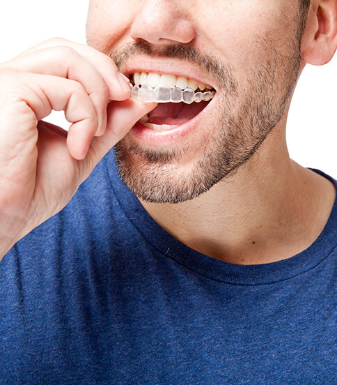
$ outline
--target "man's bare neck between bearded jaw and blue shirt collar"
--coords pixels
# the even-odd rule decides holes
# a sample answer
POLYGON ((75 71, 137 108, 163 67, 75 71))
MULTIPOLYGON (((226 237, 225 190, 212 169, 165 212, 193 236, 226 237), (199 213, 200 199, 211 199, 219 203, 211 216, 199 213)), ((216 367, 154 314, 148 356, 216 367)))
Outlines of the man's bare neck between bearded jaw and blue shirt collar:
POLYGON ((329 218, 336 191, 293 162, 282 122, 233 176, 180 204, 141 202, 178 241, 234 264, 265 264, 305 250, 329 218))

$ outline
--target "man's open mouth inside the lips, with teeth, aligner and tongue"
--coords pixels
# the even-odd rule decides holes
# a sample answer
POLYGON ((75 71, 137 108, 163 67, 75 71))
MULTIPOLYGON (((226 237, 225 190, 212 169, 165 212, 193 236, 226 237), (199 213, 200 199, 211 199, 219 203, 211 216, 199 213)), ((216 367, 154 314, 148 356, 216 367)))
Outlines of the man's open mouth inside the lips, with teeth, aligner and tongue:
POLYGON ((172 130, 201 112, 216 91, 209 84, 187 77, 139 73, 130 76, 131 97, 142 102, 159 103, 139 121, 152 130, 172 130))

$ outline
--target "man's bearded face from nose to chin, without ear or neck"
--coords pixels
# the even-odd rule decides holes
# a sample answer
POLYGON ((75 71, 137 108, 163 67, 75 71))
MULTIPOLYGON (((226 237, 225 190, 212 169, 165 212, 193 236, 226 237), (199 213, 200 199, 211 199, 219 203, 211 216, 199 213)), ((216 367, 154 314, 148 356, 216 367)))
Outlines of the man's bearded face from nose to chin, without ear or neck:
POLYGON ((216 91, 210 102, 159 104, 149 121, 164 131, 138 123, 116 145, 120 173, 139 198, 192 199, 256 153, 297 82, 298 7, 297 0, 91 0, 88 44, 131 80, 136 72, 168 74, 216 91))

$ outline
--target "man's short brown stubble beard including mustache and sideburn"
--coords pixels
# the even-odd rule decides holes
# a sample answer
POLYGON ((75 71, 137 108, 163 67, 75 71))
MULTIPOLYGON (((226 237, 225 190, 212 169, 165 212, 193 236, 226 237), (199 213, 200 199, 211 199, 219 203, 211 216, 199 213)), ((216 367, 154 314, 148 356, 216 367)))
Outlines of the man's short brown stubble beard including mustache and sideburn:
POLYGON ((207 114, 198 141, 149 149, 126 135, 116 144, 116 164, 125 185, 143 201, 175 204, 194 199, 233 176, 283 116, 299 77, 302 33, 294 31, 284 44, 286 50, 276 50, 271 38, 256 37, 260 60, 251 66, 244 86, 237 82, 235 68, 194 47, 171 45, 159 51, 141 41, 113 52, 119 68, 140 53, 183 59, 213 75, 221 85, 217 109, 207 114))

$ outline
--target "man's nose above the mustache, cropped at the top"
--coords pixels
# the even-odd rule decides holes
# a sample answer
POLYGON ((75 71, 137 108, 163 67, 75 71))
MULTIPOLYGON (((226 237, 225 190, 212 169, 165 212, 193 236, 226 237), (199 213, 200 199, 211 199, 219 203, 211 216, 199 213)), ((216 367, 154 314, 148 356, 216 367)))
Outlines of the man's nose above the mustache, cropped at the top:
POLYGON ((153 45, 191 43, 195 37, 195 30, 189 17, 187 3, 190 2, 139 1, 139 10, 131 27, 131 37, 134 40, 146 40, 153 45))

